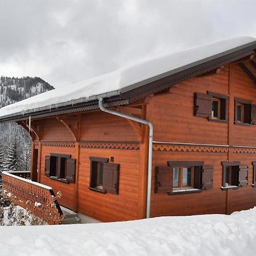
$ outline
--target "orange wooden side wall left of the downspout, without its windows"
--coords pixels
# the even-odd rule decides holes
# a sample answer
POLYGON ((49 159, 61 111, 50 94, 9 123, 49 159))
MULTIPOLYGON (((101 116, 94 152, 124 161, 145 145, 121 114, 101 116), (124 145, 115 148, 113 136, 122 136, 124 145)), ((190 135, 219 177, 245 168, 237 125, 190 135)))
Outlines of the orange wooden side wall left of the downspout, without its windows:
MULTIPOLYGON (((72 133, 56 118, 44 119, 42 125, 42 147, 40 150, 40 177, 39 182, 49 185, 55 193, 62 194, 59 203, 69 209, 86 214, 100 221, 123 221, 142 218, 141 190, 143 181, 140 179, 141 168, 144 168, 139 143, 131 149, 126 144, 139 141, 134 130, 124 118, 110 114, 92 112, 81 115, 80 142, 98 142, 92 148, 77 149, 72 133), (105 149, 104 142, 121 144, 119 149, 105 149), (56 144, 54 144, 57 142, 56 144), (58 143, 60 142, 60 143, 58 143), (125 142, 125 143, 123 143, 125 142), (47 145, 47 146, 44 146, 47 145), (52 180, 44 175, 45 158, 51 153, 71 154, 77 159, 79 177, 77 184, 66 184, 52 180), (98 193, 89 190, 90 161, 89 156, 109 158, 114 157, 114 163, 120 164, 119 193, 98 193), (77 187, 76 187, 77 186, 77 187), (78 200, 75 201, 76 189, 78 200), (76 207, 74 206, 76 204, 76 207)), ((75 124, 73 125, 75 126, 75 124)), ((39 146, 35 146, 38 148, 39 146)), ((143 145, 141 144, 143 148, 143 145)), ((118 146, 117 146, 118 148, 118 146)))

